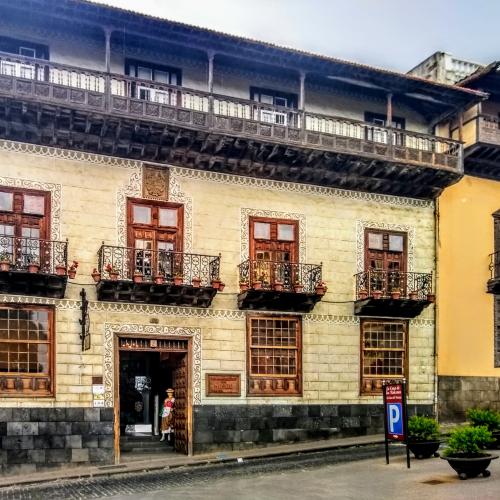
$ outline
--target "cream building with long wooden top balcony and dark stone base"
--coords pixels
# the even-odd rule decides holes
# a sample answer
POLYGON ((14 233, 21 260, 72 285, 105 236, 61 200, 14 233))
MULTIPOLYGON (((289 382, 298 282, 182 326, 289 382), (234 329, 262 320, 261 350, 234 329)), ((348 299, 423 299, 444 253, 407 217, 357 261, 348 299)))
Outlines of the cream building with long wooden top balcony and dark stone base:
POLYGON ((0 6, 4 471, 118 463, 169 386, 180 453, 379 432, 388 378, 433 411, 435 126, 483 94, 0 6))

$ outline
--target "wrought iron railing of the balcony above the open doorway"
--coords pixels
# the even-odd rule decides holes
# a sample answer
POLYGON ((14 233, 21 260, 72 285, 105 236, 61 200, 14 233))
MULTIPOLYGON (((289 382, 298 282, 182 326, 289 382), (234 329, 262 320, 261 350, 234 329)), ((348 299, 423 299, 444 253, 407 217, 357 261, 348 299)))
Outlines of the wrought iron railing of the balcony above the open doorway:
POLYGON ((206 287, 219 278, 220 255, 102 245, 98 270, 104 279, 133 280, 134 274, 140 274, 143 281, 161 276, 167 283, 179 280, 182 284, 192 284, 199 279, 200 285, 206 287))

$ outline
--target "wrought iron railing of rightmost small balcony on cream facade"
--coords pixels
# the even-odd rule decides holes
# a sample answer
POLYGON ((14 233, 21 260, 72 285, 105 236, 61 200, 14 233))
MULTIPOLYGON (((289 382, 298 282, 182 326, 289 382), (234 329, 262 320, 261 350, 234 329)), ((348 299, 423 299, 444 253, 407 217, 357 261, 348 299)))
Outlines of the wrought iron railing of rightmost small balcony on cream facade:
POLYGON ((355 275, 356 299, 380 293, 381 297, 391 297, 399 292, 401 298, 427 300, 432 294, 432 273, 400 271, 364 271, 355 275))

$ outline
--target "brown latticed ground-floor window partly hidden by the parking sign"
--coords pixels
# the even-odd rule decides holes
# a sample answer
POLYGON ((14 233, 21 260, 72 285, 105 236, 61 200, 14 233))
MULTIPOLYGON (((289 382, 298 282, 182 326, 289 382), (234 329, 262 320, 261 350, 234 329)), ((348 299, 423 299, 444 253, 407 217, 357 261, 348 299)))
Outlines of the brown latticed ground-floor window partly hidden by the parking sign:
POLYGON ((361 392, 381 392, 384 379, 406 377, 407 323, 365 320, 361 324, 361 392))

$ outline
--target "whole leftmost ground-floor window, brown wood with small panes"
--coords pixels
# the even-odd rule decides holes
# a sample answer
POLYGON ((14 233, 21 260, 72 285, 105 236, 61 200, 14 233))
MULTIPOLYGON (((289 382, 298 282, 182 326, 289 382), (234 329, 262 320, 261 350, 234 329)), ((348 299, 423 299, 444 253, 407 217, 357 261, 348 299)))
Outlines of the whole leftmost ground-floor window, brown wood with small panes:
POLYGON ((0 396, 53 394, 54 310, 0 306, 0 396))

